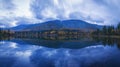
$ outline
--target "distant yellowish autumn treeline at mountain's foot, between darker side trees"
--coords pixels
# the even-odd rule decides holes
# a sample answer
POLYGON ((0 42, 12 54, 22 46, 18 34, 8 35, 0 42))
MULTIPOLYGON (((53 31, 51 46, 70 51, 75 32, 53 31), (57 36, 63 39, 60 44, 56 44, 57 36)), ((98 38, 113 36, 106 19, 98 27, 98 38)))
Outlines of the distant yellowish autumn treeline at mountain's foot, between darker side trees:
POLYGON ((43 30, 43 31, 18 31, 15 32, 16 37, 58 37, 58 36, 84 36, 85 33, 81 30, 43 30))

